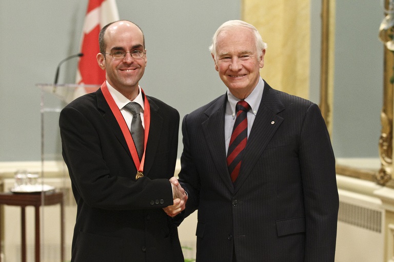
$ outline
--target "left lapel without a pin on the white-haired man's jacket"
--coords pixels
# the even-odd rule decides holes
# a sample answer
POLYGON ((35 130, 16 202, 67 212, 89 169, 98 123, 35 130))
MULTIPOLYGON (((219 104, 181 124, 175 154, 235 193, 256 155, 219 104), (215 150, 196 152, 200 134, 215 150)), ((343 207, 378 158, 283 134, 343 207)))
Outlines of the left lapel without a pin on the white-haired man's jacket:
POLYGON ((216 103, 209 107, 205 114, 208 118, 202 123, 202 129, 209 151, 212 155, 213 163, 218 169, 224 184, 230 191, 233 191, 230 174, 228 173, 226 162, 226 145, 224 139, 224 114, 226 108, 227 96, 222 95, 216 100, 216 103))

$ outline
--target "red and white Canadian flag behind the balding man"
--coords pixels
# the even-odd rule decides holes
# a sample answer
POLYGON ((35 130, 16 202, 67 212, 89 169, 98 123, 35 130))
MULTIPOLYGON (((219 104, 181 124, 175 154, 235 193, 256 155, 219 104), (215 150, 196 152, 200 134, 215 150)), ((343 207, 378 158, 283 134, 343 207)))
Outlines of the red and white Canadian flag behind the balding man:
MULTIPOLYGON (((118 21, 119 12, 115 0, 89 0, 82 33, 81 53, 76 72, 76 84, 101 85, 105 71, 97 64, 96 55, 100 52, 99 33, 108 23, 118 21)), ((76 88, 74 98, 95 91, 97 88, 76 88)))

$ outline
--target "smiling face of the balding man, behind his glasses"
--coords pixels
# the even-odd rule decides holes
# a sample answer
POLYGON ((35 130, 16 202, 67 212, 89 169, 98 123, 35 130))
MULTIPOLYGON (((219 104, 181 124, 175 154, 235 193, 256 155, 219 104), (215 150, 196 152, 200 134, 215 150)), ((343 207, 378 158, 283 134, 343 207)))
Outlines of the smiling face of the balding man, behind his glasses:
MULTIPOLYGON (((115 51, 132 52, 144 49, 144 36, 140 28, 131 22, 120 21, 110 25, 104 35, 105 53, 115 51)), ((138 94, 139 81, 144 75, 147 58, 131 57, 126 53, 123 59, 114 59, 110 54, 97 54, 97 63, 106 70, 108 83, 129 99, 138 94)))

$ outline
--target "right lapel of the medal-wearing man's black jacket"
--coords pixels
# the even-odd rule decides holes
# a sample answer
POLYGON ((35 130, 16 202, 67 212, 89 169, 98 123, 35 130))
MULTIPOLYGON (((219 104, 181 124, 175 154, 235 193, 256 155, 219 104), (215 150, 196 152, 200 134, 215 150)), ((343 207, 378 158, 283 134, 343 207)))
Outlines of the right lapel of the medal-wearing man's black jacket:
POLYGON ((148 143, 146 145, 146 155, 144 164, 144 174, 149 174, 149 170, 153 165, 154 155, 157 151, 157 146, 160 141, 160 134, 163 128, 163 117, 160 115, 159 107, 148 97, 150 106, 150 127, 148 143))

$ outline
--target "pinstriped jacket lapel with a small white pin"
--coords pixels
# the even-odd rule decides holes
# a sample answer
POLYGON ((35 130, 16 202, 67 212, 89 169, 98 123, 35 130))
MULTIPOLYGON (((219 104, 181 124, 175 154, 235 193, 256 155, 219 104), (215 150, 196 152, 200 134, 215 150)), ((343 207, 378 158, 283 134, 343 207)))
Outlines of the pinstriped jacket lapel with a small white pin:
POLYGON ((284 109, 285 107, 279 99, 277 91, 273 90, 265 83, 260 107, 254 119, 245 147, 240 175, 234 184, 235 192, 237 192, 245 182, 269 140, 271 140, 272 136, 283 122, 283 118, 279 116, 278 113, 284 109))

